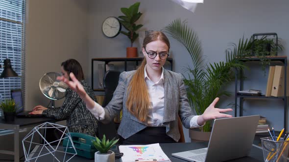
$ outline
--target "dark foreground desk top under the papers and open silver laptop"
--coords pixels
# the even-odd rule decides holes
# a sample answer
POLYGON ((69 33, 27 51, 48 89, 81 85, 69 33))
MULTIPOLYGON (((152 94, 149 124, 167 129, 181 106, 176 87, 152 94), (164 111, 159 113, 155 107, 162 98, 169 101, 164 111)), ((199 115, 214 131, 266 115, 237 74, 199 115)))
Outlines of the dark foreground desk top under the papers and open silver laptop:
MULTIPOLYGON (((187 161, 172 157, 171 153, 203 148, 203 147, 207 147, 207 145, 208 145, 208 142, 160 143, 160 146, 162 147, 165 154, 169 157, 171 162, 187 162, 187 161)), ((36 146, 32 152, 37 152, 37 149, 38 149, 38 147, 36 146)), ((59 155, 61 155, 61 154, 58 154, 58 155, 57 154, 58 154, 58 152, 56 153, 57 157, 59 157, 59 155)), ((59 158, 63 159, 63 156, 62 157, 60 156, 59 158)), ((53 159, 52 159, 51 155, 43 156, 43 157, 40 157, 38 159, 39 162, 51 162, 52 160, 53 159)), ((72 158, 72 160, 70 162, 83 162, 83 161, 94 162, 94 159, 90 160, 90 159, 82 158, 79 156, 75 156, 72 158)), ((118 159, 118 160, 116 160, 116 162, 121 162, 121 160, 118 159)), ((252 145, 252 149, 251 149, 248 157, 243 157, 243 158, 239 158, 239 159, 235 159, 235 160, 231 160, 231 161, 227 161, 227 162, 263 162, 262 148, 258 147, 256 145, 252 145)))

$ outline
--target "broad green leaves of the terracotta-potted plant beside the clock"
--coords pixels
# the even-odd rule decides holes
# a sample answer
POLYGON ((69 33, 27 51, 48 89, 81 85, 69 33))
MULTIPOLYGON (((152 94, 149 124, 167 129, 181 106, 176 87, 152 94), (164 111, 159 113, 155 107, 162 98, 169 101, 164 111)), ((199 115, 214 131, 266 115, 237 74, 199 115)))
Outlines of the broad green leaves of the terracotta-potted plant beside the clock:
POLYGON ((131 42, 131 47, 133 45, 133 42, 139 37, 139 34, 137 34, 136 31, 143 26, 142 24, 137 25, 135 23, 143 15, 141 12, 139 12, 139 6, 140 2, 136 2, 129 8, 120 8, 121 12, 125 15, 119 16, 119 18, 121 19, 120 23, 128 31, 120 31, 120 33, 126 35, 129 38, 131 42))

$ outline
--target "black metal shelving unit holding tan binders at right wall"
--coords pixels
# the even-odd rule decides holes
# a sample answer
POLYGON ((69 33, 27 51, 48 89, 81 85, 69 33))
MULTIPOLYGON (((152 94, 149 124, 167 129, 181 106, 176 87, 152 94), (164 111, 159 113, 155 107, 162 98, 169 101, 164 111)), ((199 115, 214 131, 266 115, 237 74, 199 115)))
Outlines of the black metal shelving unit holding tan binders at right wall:
MULTIPOLYGON (((279 61, 287 67, 287 56, 275 56, 275 57, 267 57, 270 61, 279 61)), ((247 61, 260 61, 257 57, 247 57, 244 59, 240 59, 240 61, 247 62, 247 61)), ((240 90, 243 90, 243 71, 238 71, 236 69, 236 75, 235 75, 235 117, 237 117, 237 103, 239 99, 239 116, 243 116, 243 99, 245 98, 253 98, 253 99, 276 99, 280 100, 282 99, 284 101, 284 128, 286 129, 286 119, 287 119, 287 96, 286 96, 286 87, 287 87, 287 68, 284 68, 285 76, 284 76, 284 96, 282 97, 266 97, 265 95, 262 96, 244 96, 244 95, 238 95, 237 92, 240 90), (240 72, 240 73, 239 73, 240 72), (240 75, 240 85, 238 90, 238 74, 240 75)))

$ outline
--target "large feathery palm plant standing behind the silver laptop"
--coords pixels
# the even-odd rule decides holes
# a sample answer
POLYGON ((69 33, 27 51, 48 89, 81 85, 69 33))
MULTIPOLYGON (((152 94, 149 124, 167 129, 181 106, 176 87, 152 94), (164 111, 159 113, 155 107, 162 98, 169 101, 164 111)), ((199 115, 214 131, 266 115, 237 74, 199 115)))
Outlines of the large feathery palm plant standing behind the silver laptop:
MULTIPOLYGON (((226 50, 226 61, 205 64, 201 55, 200 41, 186 21, 173 20, 165 27, 165 32, 181 42, 192 58, 192 66, 185 68, 184 72, 187 72, 188 76, 184 76, 184 82, 187 85, 190 105, 197 115, 203 114, 216 97, 230 96, 230 93, 223 89, 223 85, 234 79, 235 68, 243 69, 245 67, 237 59, 238 55, 243 52, 242 48, 234 46, 233 49, 226 50)), ((239 42, 239 47, 246 45, 247 40, 239 42)), ((210 122, 206 122, 202 128, 203 131, 210 131, 210 124, 210 122)))

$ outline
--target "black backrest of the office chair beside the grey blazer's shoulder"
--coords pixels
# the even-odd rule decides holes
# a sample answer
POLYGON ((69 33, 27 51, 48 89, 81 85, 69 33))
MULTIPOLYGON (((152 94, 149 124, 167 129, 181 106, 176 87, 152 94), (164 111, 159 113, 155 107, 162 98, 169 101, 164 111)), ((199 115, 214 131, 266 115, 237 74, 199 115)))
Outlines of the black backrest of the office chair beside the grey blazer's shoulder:
POLYGON ((113 97, 113 93, 119 84, 120 71, 109 70, 103 77, 104 101, 102 107, 105 107, 113 97))

